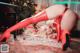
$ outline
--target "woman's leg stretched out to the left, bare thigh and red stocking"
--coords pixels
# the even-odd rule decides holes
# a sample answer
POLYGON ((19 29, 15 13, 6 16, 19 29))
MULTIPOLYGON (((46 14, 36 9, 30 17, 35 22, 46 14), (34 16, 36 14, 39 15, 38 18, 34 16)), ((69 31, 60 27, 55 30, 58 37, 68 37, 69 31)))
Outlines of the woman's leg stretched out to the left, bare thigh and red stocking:
POLYGON ((40 21, 45 21, 45 20, 48 20, 48 19, 54 19, 54 18, 56 18, 56 16, 62 14, 64 12, 64 10, 65 10, 65 7, 63 5, 51 6, 51 7, 47 8, 47 9, 45 9, 44 11, 36 14, 35 16, 30 17, 30 18, 26 18, 23 21, 17 23, 16 25, 8 28, 4 32, 1 40, 4 37, 9 38, 10 35, 8 33, 11 33, 11 32, 13 32, 13 31, 15 31, 17 29, 21 29, 23 27, 26 27, 29 24, 37 23, 37 22, 40 22, 40 21), (61 8, 61 9, 59 9, 59 8, 61 8))

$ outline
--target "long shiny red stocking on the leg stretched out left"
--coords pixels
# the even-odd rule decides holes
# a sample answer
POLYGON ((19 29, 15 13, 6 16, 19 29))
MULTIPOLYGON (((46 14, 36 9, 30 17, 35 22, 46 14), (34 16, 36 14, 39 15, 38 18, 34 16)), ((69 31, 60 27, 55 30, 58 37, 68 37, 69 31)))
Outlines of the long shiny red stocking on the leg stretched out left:
POLYGON ((2 41, 3 39, 9 39, 10 33, 13 32, 13 31, 15 31, 15 30, 17 30, 17 29, 21 29, 21 28, 23 28, 23 27, 28 26, 29 24, 37 23, 37 22, 45 21, 45 20, 48 20, 46 11, 42 11, 42 12, 40 12, 39 14, 33 16, 33 17, 26 18, 26 19, 24 19, 23 21, 17 23, 16 25, 8 28, 8 29, 3 33, 3 36, 0 38, 0 41, 2 41))

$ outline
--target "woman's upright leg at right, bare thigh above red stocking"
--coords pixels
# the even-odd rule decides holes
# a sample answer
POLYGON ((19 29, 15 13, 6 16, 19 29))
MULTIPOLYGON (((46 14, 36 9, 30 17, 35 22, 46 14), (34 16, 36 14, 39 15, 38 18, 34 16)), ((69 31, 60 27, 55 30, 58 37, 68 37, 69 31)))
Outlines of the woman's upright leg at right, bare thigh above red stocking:
POLYGON ((67 10, 62 18, 61 21, 61 41, 62 44, 65 45, 66 44, 66 37, 67 35, 70 35, 70 31, 72 30, 72 28, 74 27, 76 22, 76 15, 74 12, 72 12, 71 10, 67 10))

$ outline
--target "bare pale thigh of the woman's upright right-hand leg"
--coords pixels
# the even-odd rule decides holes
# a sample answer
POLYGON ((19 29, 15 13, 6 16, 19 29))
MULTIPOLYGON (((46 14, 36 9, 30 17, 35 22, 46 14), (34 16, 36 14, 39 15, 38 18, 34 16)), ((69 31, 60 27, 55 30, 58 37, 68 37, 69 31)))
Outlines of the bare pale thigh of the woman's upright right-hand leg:
POLYGON ((71 10, 67 10, 61 21, 61 29, 71 31, 76 22, 76 15, 71 10))

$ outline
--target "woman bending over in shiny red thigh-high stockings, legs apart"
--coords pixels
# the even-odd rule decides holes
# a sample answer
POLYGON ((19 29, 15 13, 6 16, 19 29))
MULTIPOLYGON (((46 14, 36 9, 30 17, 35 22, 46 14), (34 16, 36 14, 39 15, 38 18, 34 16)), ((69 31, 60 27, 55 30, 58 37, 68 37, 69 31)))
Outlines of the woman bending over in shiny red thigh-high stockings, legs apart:
POLYGON ((10 37, 10 33, 28 26, 29 24, 37 23, 40 21, 46 21, 46 20, 52 20, 55 19, 57 22, 57 31, 58 36, 57 40, 61 41, 63 46, 66 43, 66 34, 70 34, 70 31, 75 25, 76 22, 76 15, 75 13, 68 9, 64 5, 53 5, 49 8, 41 11, 40 13, 30 17, 26 18, 23 21, 17 23, 16 25, 8 28, 1 37, 0 41, 2 41, 4 38, 8 39, 10 37))

